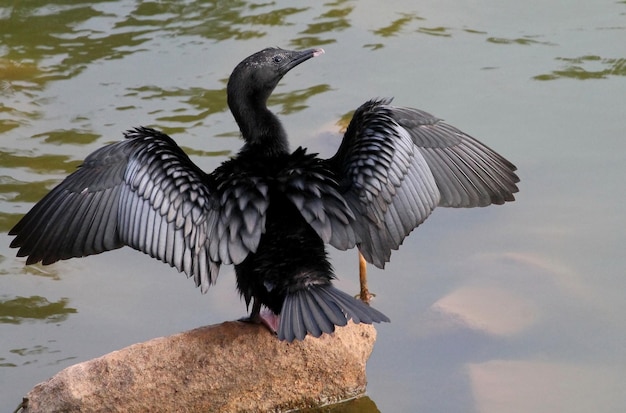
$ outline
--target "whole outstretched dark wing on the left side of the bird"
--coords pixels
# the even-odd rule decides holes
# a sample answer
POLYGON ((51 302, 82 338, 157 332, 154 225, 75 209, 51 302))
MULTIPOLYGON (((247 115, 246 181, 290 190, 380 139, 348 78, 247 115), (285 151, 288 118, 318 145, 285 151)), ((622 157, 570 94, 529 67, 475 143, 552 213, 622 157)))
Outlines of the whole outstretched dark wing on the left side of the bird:
POLYGON ((184 271, 204 292, 221 263, 241 262, 258 246, 264 220, 242 226, 246 207, 218 193, 170 137, 138 128, 89 155, 9 234, 27 264, 128 245, 184 271))

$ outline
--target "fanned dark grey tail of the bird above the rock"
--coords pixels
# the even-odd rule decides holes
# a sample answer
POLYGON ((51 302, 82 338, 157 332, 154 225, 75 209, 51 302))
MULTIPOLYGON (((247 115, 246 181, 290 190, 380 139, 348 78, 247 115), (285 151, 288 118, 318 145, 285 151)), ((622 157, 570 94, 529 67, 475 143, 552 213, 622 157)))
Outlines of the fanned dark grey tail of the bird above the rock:
POLYGON ((345 326, 350 319, 357 324, 389 321, 380 311, 332 285, 310 286, 285 298, 278 338, 291 342, 303 340, 307 334, 319 337, 334 332, 335 326, 345 326))

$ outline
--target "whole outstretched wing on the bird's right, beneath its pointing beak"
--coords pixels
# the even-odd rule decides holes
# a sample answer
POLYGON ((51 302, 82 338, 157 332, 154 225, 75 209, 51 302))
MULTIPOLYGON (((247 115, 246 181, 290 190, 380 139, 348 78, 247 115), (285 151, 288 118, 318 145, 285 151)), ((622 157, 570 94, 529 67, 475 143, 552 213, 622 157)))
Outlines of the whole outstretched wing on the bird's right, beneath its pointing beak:
POLYGON ((357 245, 381 268, 436 206, 512 201, 519 181, 515 166, 477 140, 428 113, 389 103, 373 100, 357 109, 328 160, 356 216, 357 245))

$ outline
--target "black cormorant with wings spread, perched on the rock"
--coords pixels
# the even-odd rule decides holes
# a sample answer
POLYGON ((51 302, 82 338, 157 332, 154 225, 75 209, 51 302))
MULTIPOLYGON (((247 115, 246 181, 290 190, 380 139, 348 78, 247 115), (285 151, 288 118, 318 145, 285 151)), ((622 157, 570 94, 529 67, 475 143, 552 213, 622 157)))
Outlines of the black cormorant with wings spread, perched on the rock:
POLYGON ((250 320, 280 339, 331 333, 352 319, 389 321, 332 286, 325 244, 358 247, 378 267, 436 206, 513 201, 515 166, 417 109, 370 100, 330 159, 298 148, 267 108, 292 68, 324 53, 268 48, 230 76, 245 141, 210 174, 167 135, 136 128, 91 155, 10 231, 26 264, 128 245, 184 271, 205 292, 234 264, 250 320), (262 307, 280 318, 263 317, 262 307))

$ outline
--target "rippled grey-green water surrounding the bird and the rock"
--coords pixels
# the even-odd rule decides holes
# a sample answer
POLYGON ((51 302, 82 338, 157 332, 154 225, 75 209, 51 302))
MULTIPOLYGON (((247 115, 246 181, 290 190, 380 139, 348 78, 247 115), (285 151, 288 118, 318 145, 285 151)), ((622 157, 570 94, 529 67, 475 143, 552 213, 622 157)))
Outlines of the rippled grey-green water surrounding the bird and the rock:
MULTIPOLYGON (((393 96, 519 168, 518 200, 434 212, 371 269, 369 399, 339 411, 626 408, 626 2, 0 1, 0 230, 91 151, 152 126, 211 170, 241 141, 225 85, 267 46, 323 47, 272 97, 292 146, 330 156, 393 96)), ((0 406, 73 363, 241 317, 130 249, 24 266, 0 236, 0 406)), ((354 251, 331 251, 357 291, 354 251)))

